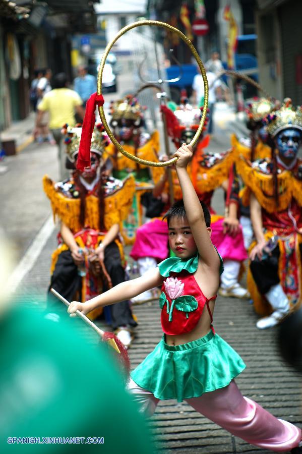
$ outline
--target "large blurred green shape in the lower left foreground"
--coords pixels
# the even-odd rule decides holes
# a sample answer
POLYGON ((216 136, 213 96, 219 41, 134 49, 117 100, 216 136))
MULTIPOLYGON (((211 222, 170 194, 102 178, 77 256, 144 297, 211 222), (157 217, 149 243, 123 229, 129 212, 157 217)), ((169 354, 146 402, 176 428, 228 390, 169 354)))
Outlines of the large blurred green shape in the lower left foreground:
POLYGON ((79 336, 79 323, 67 314, 58 322, 45 319, 36 307, 13 307, 2 314, 1 452, 154 453, 110 349, 88 344, 79 336), (85 440, 9 444, 8 437, 85 440), (89 444, 86 437, 100 440, 89 444))

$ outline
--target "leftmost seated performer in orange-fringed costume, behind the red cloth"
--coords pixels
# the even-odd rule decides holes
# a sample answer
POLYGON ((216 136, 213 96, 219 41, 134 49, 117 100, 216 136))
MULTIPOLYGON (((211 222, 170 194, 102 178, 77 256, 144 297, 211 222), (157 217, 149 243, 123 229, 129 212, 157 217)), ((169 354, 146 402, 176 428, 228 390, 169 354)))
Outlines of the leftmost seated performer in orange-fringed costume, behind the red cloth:
MULTIPOLYGON (((67 156, 74 163, 82 128, 66 125, 64 133, 67 156)), ((52 254, 49 290, 53 288, 68 301, 77 292, 86 301, 125 280, 119 232, 132 204, 135 181, 133 176, 121 181, 102 173, 102 155, 107 144, 103 125, 96 125, 91 142, 91 167, 85 167, 83 172, 74 170, 69 180, 59 183, 47 176, 43 178, 53 215, 61 221, 59 245, 52 254)), ((49 309, 58 305, 49 293, 49 309)), ((92 313, 90 317, 98 315, 92 313)), ((129 301, 125 299, 116 307, 110 306, 107 315, 120 341, 129 346, 137 325, 129 301)))

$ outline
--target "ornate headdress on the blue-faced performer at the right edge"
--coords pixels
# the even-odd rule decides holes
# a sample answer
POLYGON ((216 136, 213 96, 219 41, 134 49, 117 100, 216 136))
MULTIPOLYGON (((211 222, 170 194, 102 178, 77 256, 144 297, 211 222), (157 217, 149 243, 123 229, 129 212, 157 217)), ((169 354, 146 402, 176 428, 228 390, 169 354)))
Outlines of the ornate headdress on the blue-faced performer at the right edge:
POLYGON ((290 98, 285 98, 282 107, 270 113, 266 119, 267 130, 275 137, 284 129, 298 129, 302 133, 302 106, 294 108, 290 98))

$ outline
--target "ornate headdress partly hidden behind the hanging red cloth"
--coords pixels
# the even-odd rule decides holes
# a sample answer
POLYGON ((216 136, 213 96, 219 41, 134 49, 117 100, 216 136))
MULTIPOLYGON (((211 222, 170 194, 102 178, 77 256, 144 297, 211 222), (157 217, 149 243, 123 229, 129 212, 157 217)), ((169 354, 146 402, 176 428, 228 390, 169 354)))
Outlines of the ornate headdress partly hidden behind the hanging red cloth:
MULTIPOLYGON (((76 155, 79 151, 79 145, 82 135, 82 127, 71 128, 64 125, 62 133, 65 137, 66 154, 71 162, 75 162, 76 155)), ((94 127, 91 139, 90 150, 102 156, 105 147, 109 144, 109 138, 105 133, 105 129, 101 123, 97 123, 94 127)))

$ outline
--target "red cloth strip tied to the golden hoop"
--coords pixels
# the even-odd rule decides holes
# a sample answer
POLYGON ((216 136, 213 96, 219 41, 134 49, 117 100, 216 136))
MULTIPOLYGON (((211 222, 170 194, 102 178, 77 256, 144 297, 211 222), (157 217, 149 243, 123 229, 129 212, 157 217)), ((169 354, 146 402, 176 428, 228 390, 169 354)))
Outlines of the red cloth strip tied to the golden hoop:
POLYGON ((83 120, 83 128, 81 141, 77 159, 77 169, 83 171, 84 167, 90 167, 90 147, 91 137, 95 124, 95 109, 104 104, 103 95, 93 93, 86 103, 85 117, 83 120))

